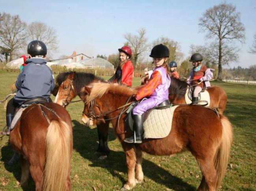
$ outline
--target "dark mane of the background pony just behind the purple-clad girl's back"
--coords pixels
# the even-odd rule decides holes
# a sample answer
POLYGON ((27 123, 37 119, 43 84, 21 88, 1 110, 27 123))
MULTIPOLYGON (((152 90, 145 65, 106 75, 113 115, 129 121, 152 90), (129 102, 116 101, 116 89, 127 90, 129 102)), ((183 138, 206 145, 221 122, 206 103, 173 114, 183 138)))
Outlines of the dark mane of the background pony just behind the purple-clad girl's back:
MULTIPOLYGON (((174 98, 178 96, 178 100, 184 97, 187 89, 187 82, 184 82, 177 78, 171 78, 171 85, 169 87, 169 94, 174 95, 174 98)), ((173 101, 173 100, 171 100, 173 101)))

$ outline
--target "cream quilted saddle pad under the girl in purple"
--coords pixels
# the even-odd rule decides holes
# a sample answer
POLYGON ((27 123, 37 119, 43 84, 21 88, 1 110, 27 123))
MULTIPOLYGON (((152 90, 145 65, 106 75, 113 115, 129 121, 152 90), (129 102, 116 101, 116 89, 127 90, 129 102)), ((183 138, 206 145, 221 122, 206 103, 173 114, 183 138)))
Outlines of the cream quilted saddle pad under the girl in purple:
MULTIPOLYGON (((151 111, 147 120, 143 123, 144 138, 164 138, 169 135, 173 121, 173 113, 177 107, 178 106, 173 106, 151 111)), ((133 121, 131 122, 131 120, 129 120, 129 125, 132 128, 133 121)))

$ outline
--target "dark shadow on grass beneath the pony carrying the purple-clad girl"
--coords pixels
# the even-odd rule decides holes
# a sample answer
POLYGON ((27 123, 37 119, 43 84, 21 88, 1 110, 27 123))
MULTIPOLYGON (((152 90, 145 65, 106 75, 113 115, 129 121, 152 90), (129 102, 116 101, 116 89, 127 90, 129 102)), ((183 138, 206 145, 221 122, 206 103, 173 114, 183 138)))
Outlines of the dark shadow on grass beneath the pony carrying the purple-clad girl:
MULTIPOLYGON (((111 151, 108 159, 98 160, 97 156, 90 154, 91 151, 93 151, 92 146, 96 145, 97 129, 90 129, 87 126, 80 124, 76 120, 72 120, 72 122, 74 124, 74 149, 80 153, 83 158, 86 158, 92 162, 90 165, 91 167, 102 167, 107 169, 112 176, 118 177, 119 180, 125 184, 126 180, 119 174, 119 172, 125 174, 127 173, 126 158, 124 152, 111 151)), ((109 137, 111 140, 115 137, 112 128, 109 129, 109 137)), ((187 184, 181 178, 171 175, 168 171, 149 160, 143 160, 143 172, 147 178, 157 182, 160 185, 165 185, 170 189, 186 191, 196 190, 195 187, 187 184)))

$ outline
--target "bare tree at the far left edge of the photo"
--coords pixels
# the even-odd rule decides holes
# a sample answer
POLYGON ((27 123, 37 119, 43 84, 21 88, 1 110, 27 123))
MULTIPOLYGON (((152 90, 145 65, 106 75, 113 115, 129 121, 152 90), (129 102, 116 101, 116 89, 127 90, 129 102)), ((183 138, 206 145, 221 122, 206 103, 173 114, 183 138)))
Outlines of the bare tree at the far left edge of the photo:
MULTIPOLYGON (((11 16, 3 13, 0 16, 0 45, 2 53, 13 59, 15 51, 26 45, 26 23, 20 20, 19 15, 11 16), (9 52, 8 52, 9 51, 9 52)), ((7 62, 7 60, 6 60, 7 62)))

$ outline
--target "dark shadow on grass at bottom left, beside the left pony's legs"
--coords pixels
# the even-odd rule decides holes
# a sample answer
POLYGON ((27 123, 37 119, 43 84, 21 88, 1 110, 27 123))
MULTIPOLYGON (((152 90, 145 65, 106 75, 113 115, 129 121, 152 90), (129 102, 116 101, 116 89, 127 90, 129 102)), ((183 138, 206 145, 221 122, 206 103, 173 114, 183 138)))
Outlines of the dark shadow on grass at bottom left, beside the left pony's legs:
MULTIPOLYGON (((13 174, 15 179, 20 182, 21 178, 21 164, 20 162, 17 162, 13 166, 7 165, 7 162, 11 159, 11 157, 14 154, 14 149, 11 147, 11 144, 8 142, 7 146, 2 147, 1 153, 2 153, 2 158, 1 161, 4 162, 4 168, 9 171, 10 173, 13 174)), ((30 176, 28 180, 28 185, 26 187, 22 187, 24 191, 32 191, 35 190, 35 183, 30 176)))

